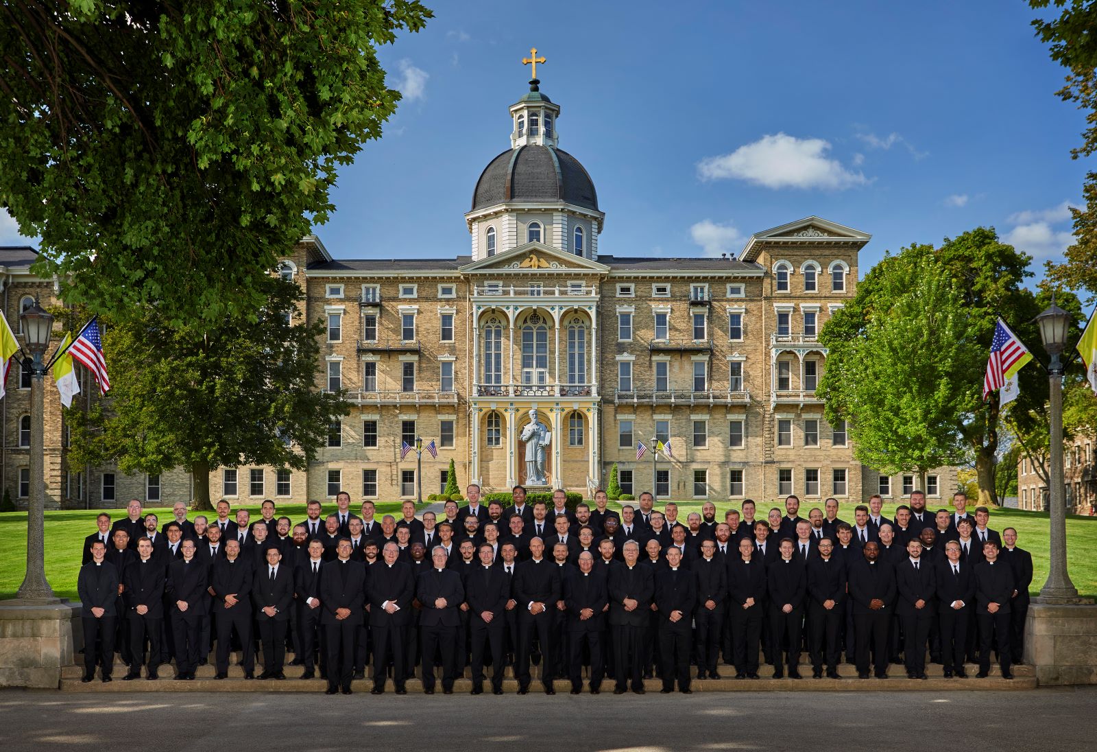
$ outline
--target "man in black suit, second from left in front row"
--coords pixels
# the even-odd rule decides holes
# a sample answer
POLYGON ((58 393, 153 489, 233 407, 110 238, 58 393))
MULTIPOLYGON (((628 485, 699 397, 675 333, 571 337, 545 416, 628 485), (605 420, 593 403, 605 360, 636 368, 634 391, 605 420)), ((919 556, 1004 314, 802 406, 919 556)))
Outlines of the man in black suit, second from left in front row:
POLYGON ((163 622, 163 564, 152 558, 152 543, 148 538, 137 541, 137 560, 126 568, 123 579, 123 602, 129 620, 129 655, 132 663, 124 681, 140 676, 145 638, 148 637, 148 669, 146 678, 158 678, 160 665, 160 630, 163 622))

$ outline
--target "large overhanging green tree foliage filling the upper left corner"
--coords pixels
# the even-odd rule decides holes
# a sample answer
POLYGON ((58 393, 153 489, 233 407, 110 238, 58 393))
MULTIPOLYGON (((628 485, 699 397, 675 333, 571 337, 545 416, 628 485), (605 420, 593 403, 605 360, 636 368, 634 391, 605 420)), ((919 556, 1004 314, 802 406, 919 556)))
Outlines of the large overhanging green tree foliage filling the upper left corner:
POLYGON ((35 272, 115 321, 212 329, 335 209, 337 170, 399 92, 376 47, 417 0, 0 7, 0 207, 41 236, 35 272))

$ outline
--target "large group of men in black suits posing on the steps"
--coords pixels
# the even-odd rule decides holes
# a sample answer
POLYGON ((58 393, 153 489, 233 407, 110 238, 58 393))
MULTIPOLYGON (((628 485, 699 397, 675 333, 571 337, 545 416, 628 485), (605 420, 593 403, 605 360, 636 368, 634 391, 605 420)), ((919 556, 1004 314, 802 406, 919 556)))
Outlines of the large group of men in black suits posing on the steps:
POLYGON ((737 678, 758 677, 759 653, 774 677, 800 678, 804 648, 813 675, 835 678, 844 648, 861 677, 870 669, 886 677, 900 650, 909 677, 925 677, 927 647, 946 676, 963 676, 976 647, 980 675, 992 650, 1006 677, 1020 658, 1031 557, 1011 528, 989 530, 982 507, 969 517, 961 495, 954 514, 932 515, 916 492, 892 520, 874 496, 852 525, 833 498, 804 519, 789 496, 785 514, 771 509, 766 520, 748 500, 723 523, 706 503, 683 524, 676 505, 656 510, 649 493, 620 513, 603 491, 574 510, 562 491, 551 505, 525 495, 519 485, 512 504, 485 505, 472 484, 467 504, 446 504, 442 519, 417 518, 406 503, 399 520, 376 520, 372 502, 350 512, 347 493, 327 517, 309 502, 295 526, 275 518, 272 502, 250 524, 246 510, 230 519, 225 501, 212 524, 188 523, 177 505, 160 530, 136 502, 113 526, 101 515, 80 574, 86 681, 97 662, 110 681, 115 636, 127 678, 146 646, 155 678, 167 640, 185 680, 213 638, 216 676, 238 644, 251 677, 258 635, 259 678, 284 678, 289 646, 304 678, 319 665, 330 694, 349 694, 370 655, 377 694, 389 677, 403 694, 417 664, 429 693, 436 667, 450 693, 468 666, 480 694, 490 666, 501 694, 510 666, 525 694, 540 664, 548 694, 556 676, 579 693, 584 667, 591 693, 608 677, 621 694, 644 693, 654 675, 663 692, 689 693, 691 664, 698 678, 719 678, 721 652, 737 678))

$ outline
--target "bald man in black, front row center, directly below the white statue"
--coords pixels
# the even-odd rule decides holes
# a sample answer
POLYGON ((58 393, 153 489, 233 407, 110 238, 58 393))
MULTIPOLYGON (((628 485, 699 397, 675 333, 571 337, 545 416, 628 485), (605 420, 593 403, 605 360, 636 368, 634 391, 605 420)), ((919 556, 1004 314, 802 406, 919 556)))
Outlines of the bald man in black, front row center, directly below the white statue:
POLYGON ((530 691, 530 653, 533 637, 541 646, 541 683, 546 695, 554 695, 552 662, 553 610, 559 601, 559 568, 544 557, 544 542, 540 538, 530 541, 530 559, 514 569, 511 593, 518 610, 518 694, 530 691))

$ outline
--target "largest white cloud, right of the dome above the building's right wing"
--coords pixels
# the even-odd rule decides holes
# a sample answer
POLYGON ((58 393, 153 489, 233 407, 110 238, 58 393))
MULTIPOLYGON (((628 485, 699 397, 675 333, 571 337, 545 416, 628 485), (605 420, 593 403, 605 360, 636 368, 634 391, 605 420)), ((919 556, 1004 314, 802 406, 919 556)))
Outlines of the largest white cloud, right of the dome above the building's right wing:
POLYGON ((861 172, 828 159, 829 142, 796 138, 784 133, 766 135, 731 154, 705 157, 698 164, 702 180, 735 178, 766 188, 844 189, 869 182, 861 172))

